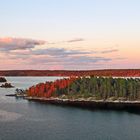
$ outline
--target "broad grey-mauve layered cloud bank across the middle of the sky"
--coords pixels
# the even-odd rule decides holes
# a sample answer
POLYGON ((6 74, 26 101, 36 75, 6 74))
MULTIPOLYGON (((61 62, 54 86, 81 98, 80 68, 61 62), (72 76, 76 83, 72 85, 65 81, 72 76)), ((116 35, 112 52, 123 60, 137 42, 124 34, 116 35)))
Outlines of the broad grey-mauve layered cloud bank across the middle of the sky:
MULTIPOLYGON (((107 52, 106 52, 107 53, 107 52)), ((38 50, 16 50, 10 52, 10 59, 29 60, 29 63, 46 64, 46 65, 93 65, 99 62, 111 61, 111 58, 102 57, 101 52, 80 51, 65 48, 47 48, 38 50), (97 56, 99 55, 99 56, 97 56)))

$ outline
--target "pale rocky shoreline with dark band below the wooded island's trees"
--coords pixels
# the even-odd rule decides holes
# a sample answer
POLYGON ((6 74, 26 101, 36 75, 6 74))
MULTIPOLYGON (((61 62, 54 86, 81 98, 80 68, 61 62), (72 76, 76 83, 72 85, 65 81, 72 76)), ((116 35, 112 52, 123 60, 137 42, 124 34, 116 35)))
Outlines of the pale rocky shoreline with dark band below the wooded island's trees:
POLYGON ((140 101, 109 101, 109 100, 85 100, 85 99, 60 99, 60 98, 38 98, 25 97, 28 101, 42 102, 46 104, 74 106, 87 109, 108 110, 133 110, 140 111, 140 101))

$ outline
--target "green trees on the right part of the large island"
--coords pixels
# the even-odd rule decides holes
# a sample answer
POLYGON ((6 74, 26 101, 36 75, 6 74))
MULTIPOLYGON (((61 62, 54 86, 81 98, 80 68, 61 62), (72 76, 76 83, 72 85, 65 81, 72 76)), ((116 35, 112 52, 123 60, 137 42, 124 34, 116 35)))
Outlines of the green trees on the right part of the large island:
POLYGON ((70 96, 94 97, 104 100, 139 100, 140 79, 83 77, 75 80, 67 93, 70 96))

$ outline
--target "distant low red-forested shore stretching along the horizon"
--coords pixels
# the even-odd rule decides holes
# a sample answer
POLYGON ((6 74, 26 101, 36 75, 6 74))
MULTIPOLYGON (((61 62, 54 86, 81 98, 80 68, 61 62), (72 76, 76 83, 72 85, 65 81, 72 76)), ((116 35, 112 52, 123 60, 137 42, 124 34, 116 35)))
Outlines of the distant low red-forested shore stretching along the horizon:
POLYGON ((1 70, 0 76, 113 76, 140 77, 140 69, 105 70, 1 70))

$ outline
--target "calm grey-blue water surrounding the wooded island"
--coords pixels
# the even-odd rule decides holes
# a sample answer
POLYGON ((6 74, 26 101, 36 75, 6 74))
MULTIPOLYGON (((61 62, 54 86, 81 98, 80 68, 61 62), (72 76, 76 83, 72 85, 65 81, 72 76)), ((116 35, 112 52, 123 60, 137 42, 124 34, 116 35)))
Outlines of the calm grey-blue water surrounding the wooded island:
MULTIPOLYGON (((57 77, 7 77, 16 88, 57 77)), ((0 89, 0 140, 140 140, 140 114, 92 111, 6 97, 0 89)))

